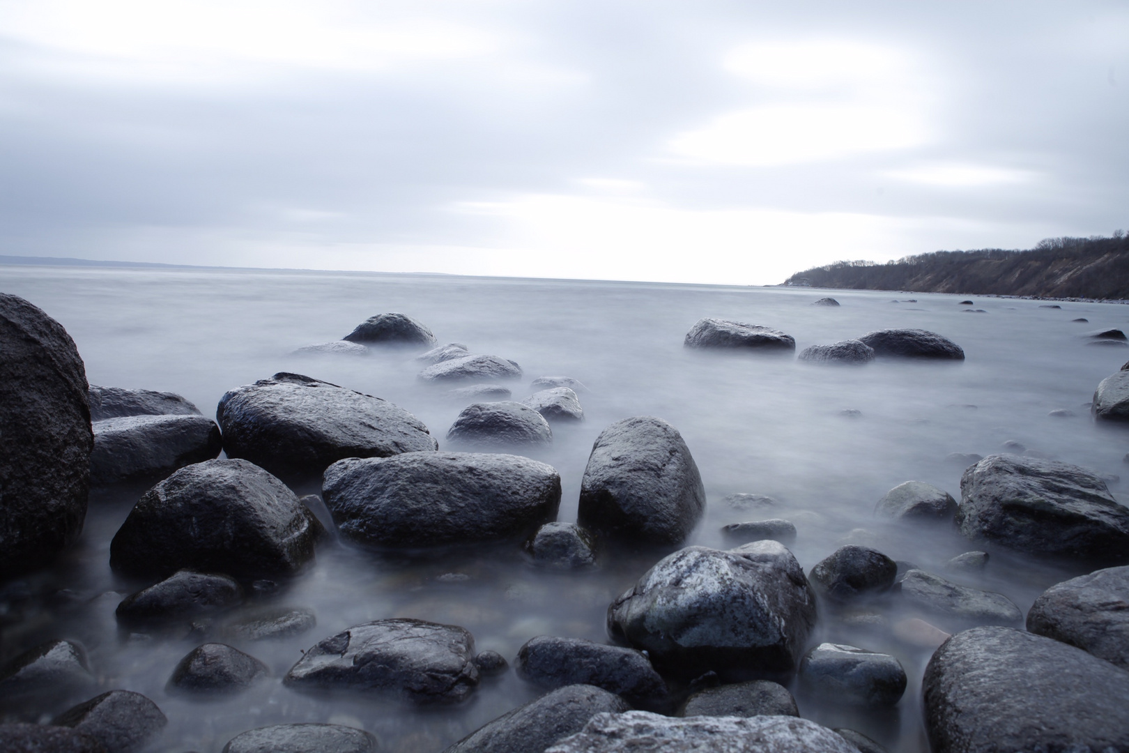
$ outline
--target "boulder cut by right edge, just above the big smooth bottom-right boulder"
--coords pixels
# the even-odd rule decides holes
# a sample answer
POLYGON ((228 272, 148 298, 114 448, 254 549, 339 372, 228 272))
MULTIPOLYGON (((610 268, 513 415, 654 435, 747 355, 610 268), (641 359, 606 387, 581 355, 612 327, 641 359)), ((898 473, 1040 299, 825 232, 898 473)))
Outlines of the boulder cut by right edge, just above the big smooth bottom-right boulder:
POLYGON ((1129 566, 1051 586, 1027 612, 1027 630, 1129 669, 1129 566))

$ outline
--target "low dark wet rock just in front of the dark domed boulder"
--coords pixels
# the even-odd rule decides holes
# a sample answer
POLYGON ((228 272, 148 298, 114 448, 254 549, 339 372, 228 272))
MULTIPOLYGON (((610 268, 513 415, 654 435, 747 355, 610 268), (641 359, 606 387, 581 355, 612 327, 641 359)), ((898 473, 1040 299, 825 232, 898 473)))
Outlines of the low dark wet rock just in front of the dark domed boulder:
POLYGON ((234 578, 181 570, 160 583, 126 596, 117 605, 117 621, 137 624, 207 614, 243 601, 234 578))

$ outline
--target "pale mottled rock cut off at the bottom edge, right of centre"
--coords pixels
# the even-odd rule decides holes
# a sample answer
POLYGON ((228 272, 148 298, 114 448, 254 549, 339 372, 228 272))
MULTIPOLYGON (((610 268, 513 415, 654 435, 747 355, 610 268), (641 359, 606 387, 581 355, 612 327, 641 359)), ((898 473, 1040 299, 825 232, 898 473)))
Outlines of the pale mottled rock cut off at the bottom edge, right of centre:
POLYGON ((858 753, 826 727, 797 717, 671 718, 647 711, 597 713, 584 732, 545 753, 858 753))

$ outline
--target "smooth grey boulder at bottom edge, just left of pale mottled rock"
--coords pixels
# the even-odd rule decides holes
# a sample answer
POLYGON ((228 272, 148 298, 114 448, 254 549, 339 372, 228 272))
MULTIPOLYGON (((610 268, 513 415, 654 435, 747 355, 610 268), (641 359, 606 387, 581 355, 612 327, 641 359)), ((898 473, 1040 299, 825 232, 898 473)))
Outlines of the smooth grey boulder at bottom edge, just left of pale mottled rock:
POLYGON ((621 713, 630 708, 606 690, 568 685, 487 723, 444 753, 544 753, 584 729, 597 713, 621 713))

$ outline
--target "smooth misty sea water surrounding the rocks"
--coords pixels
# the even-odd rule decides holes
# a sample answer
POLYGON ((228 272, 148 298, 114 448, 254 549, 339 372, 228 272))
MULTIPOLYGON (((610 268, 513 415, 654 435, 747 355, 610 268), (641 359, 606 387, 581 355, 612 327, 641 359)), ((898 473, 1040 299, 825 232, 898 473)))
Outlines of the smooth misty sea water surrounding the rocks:
MULTIPOLYGON (((418 383, 420 366, 411 353, 292 354, 339 339, 374 314, 404 312, 428 324, 440 342, 519 362, 525 377, 510 385, 515 400, 530 393, 537 376, 568 375, 588 386, 580 395, 585 422, 555 424, 552 447, 531 453, 561 474, 561 520, 576 519, 580 478, 599 431, 629 415, 651 414, 680 429, 706 484, 709 506, 688 543, 726 548, 733 542, 723 540, 723 525, 782 517, 796 524, 789 548, 805 570, 842 543, 864 543, 1003 593, 1024 612, 1044 588, 1082 570, 988 548, 992 559, 983 573, 946 575, 948 559, 986 548, 947 526, 882 523, 873 517, 875 502, 911 479, 959 499, 964 467, 945 456, 1004 452, 1007 440, 1110 475, 1123 473, 1129 449, 1129 434, 1095 424, 1087 405, 1097 383, 1129 358, 1127 347, 1092 345, 1082 336, 1123 329, 1129 307, 1114 304, 1051 309, 1039 301, 975 298, 975 308, 986 310, 975 314, 957 305, 964 296, 928 294, 832 291, 842 304, 835 308, 812 306, 826 291, 796 288, 37 266, 0 266, 0 290, 27 298, 67 327, 93 384, 176 392, 211 414, 227 389, 297 371, 393 401, 427 423, 445 448, 463 403, 446 399, 447 387, 418 383), (702 316, 784 330, 797 350, 875 329, 921 327, 957 342, 966 360, 828 367, 790 356, 689 351, 682 339, 702 316), (1070 321, 1076 317, 1089 322, 1070 321), (843 414, 846 409, 858 414, 843 414), (1048 415, 1056 409, 1075 414, 1048 415), (723 498, 734 492, 769 494, 780 505, 733 509, 723 498)), ((1110 489, 1126 499, 1124 482, 1111 480, 1110 489)), ((662 557, 605 553, 595 570, 555 573, 533 568, 516 545, 390 557, 331 543, 299 578, 255 604, 310 607, 317 614, 313 630, 229 641, 265 662, 273 677, 234 698, 196 701, 169 694, 165 683, 181 657, 219 633, 130 636, 114 620, 119 601, 147 585, 108 568, 110 540, 142 491, 95 491, 79 544, 62 562, 0 586, 0 659, 49 638, 80 640, 99 692, 145 693, 169 717, 158 750, 207 753, 253 727, 330 721, 374 733, 382 750, 441 751, 541 691, 510 671, 485 680, 462 706, 419 710, 368 697, 298 693, 279 678, 322 638, 390 616, 462 625, 479 650, 496 649, 511 662, 537 634, 607 640, 609 602, 662 557), (438 579, 445 573, 467 578, 438 579)), ((324 508, 316 511, 329 519, 324 508)), ((889 602, 872 606, 887 624, 905 616, 889 602)), ((794 688, 802 715, 854 727, 894 751, 928 750, 919 690, 931 649, 904 642, 882 624, 850 627, 828 608, 812 636, 813 645, 823 640, 893 654, 910 686, 889 713, 839 708, 794 688)), ((61 710, 44 709, 43 716, 61 710)))

